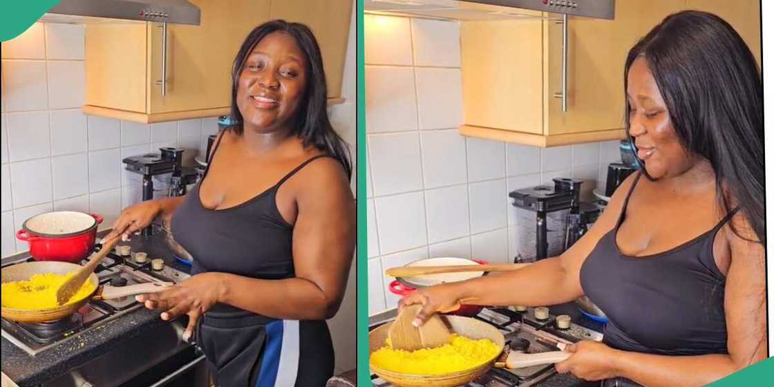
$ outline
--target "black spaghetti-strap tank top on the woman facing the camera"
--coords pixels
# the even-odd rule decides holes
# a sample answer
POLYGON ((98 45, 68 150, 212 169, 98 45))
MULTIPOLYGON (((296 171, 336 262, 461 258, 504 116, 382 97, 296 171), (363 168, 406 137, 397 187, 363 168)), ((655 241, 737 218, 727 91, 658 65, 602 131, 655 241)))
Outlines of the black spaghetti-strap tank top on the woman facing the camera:
POLYGON ((260 279, 295 276, 293 225, 279 214, 277 190, 308 163, 330 156, 318 155, 307 159, 273 187, 244 203, 211 210, 201 204, 199 188, 220 145, 218 141, 204 176, 186 195, 172 217, 175 240, 194 257, 191 275, 229 272, 260 279))

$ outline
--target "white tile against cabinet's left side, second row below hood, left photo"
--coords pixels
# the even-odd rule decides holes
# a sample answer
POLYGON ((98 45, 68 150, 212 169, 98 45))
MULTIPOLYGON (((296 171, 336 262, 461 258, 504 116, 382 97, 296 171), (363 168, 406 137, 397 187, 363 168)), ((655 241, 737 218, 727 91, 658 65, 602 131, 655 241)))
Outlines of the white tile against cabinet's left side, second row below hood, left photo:
POLYGON ((86 75, 81 60, 47 60, 49 108, 80 108, 84 104, 86 75))

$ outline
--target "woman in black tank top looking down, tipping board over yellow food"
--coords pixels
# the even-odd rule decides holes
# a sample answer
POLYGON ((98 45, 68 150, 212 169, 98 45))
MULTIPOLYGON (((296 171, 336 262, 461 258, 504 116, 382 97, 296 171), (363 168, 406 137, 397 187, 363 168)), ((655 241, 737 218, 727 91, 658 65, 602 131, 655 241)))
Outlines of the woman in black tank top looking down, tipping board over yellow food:
POLYGON ((402 300, 423 304, 416 324, 460 303, 539 306, 585 294, 609 318, 604 340, 570 346, 559 372, 603 385, 704 385, 766 356, 762 83, 752 53, 717 16, 680 12, 629 51, 624 80, 641 172, 562 255, 402 300))

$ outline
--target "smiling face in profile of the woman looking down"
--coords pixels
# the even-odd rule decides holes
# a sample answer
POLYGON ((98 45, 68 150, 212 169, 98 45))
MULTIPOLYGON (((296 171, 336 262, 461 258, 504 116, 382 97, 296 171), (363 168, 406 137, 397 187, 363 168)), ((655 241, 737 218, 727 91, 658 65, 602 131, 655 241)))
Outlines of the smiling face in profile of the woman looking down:
POLYGON ((680 145, 670 111, 644 57, 632 63, 627 81, 628 130, 648 174, 657 180, 690 169, 690 158, 680 145))

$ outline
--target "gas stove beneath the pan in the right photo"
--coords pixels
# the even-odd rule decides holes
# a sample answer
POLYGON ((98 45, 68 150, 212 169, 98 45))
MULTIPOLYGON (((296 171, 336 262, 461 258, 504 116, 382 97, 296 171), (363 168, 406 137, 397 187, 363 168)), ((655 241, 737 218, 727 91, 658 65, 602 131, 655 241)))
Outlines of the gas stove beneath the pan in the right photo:
MULTIPOLYGON (((557 315, 543 308, 499 308, 486 307, 474 318, 485 321, 497 327, 505 335, 506 347, 526 348, 526 353, 540 353, 563 350, 568 344, 581 340, 601 341, 601 325, 594 324, 587 319, 570 321, 567 324, 567 315, 561 315, 557 322, 557 315), (543 317, 543 318, 539 318, 543 317), (560 328, 560 326, 562 328, 560 328)), ((562 310, 557 308, 557 310, 562 310)), ((560 312, 561 313, 561 312, 560 312)), ((372 324, 372 329, 383 324, 372 324)), ((375 387, 388 387, 391 384, 382 378, 372 375, 375 387)), ((557 373, 553 365, 536 365, 527 368, 506 369, 491 368, 487 373, 476 378, 466 386, 470 387, 525 387, 530 385, 551 385, 553 387, 576 387, 591 384, 572 375, 557 373)))

